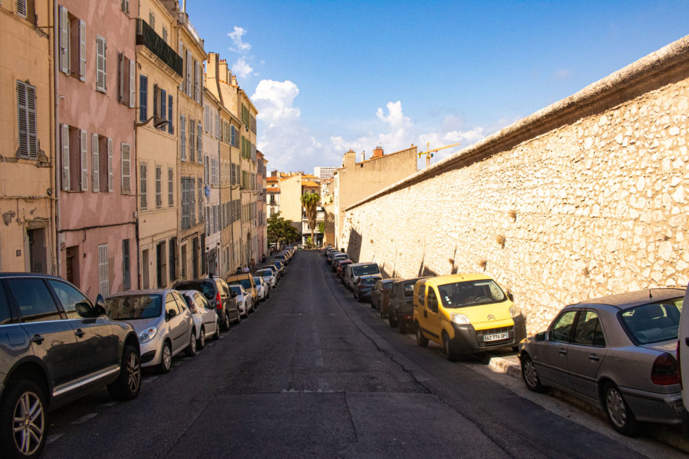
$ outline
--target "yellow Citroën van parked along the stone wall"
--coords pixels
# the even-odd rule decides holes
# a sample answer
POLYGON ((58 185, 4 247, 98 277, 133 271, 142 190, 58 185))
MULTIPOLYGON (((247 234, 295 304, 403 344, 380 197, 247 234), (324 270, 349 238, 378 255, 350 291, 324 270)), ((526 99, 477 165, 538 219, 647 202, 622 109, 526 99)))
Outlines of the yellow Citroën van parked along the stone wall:
POLYGON ((524 316, 495 280, 484 274, 420 279, 414 285, 416 342, 431 340, 448 360, 499 347, 517 349, 526 337, 524 316))

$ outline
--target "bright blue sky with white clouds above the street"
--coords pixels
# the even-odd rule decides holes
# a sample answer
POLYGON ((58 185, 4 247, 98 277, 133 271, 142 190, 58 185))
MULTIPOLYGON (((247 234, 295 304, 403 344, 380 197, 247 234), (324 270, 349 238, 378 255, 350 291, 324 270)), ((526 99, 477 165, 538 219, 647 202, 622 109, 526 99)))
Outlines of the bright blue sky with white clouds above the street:
MULTIPOLYGON (((259 109, 269 169, 437 161, 689 34, 684 1, 187 0, 259 109)), ((421 164, 421 162, 420 162, 421 164)))

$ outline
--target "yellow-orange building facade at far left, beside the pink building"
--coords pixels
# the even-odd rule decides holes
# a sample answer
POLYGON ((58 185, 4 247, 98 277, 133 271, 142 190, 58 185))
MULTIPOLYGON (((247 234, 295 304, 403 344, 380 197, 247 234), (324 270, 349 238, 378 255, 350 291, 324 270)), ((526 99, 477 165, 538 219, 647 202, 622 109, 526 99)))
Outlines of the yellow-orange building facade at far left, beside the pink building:
POLYGON ((0 270, 58 273, 53 1, 0 4, 0 270))

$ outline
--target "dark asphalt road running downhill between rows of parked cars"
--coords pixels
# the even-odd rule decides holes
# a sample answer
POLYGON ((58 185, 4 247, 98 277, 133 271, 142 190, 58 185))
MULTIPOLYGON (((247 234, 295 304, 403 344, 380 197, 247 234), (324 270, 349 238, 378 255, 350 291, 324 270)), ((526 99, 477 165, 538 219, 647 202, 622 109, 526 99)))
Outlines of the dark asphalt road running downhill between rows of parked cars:
POLYGON ((418 347, 323 261, 298 253, 255 313, 168 375, 146 373, 138 399, 98 392, 51 413, 44 457, 645 457, 481 363, 418 347))

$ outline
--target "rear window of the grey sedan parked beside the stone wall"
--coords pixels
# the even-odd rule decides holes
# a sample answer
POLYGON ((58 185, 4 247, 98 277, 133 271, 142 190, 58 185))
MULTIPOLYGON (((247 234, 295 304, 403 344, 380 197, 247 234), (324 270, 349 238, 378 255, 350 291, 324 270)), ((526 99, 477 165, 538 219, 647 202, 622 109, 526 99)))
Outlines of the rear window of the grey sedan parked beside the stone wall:
POLYGON ((676 340, 683 301, 681 297, 642 304, 626 309, 619 317, 640 344, 676 340))

